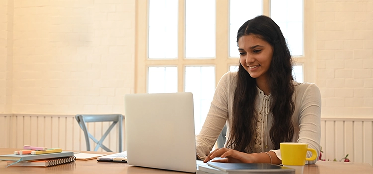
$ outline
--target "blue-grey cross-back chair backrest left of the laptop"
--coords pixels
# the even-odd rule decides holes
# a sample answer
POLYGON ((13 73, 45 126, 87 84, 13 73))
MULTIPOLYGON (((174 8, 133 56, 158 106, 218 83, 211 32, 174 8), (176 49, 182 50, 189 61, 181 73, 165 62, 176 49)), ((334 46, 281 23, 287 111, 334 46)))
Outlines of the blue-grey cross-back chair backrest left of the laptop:
POLYGON ((118 141, 119 141, 119 152, 122 152, 122 142, 123 142, 123 115, 122 114, 105 114, 105 115, 75 115, 75 119, 77 120, 80 128, 82 128, 84 132, 84 137, 86 139, 86 147, 87 151, 90 151, 90 138, 96 143, 96 147, 94 151, 97 151, 99 147, 104 149, 107 152, 113 152, 105 145, 103 145, 103 141, 105 140, 106 136, 110 133, 111 129, 118 123, 118 141), (88 132, 86 123, 89 122, 104 122, 104 121, 111 121, 112 124, 106 130, 106 132, 102 135, 100 140, 97 140, 88 132))

